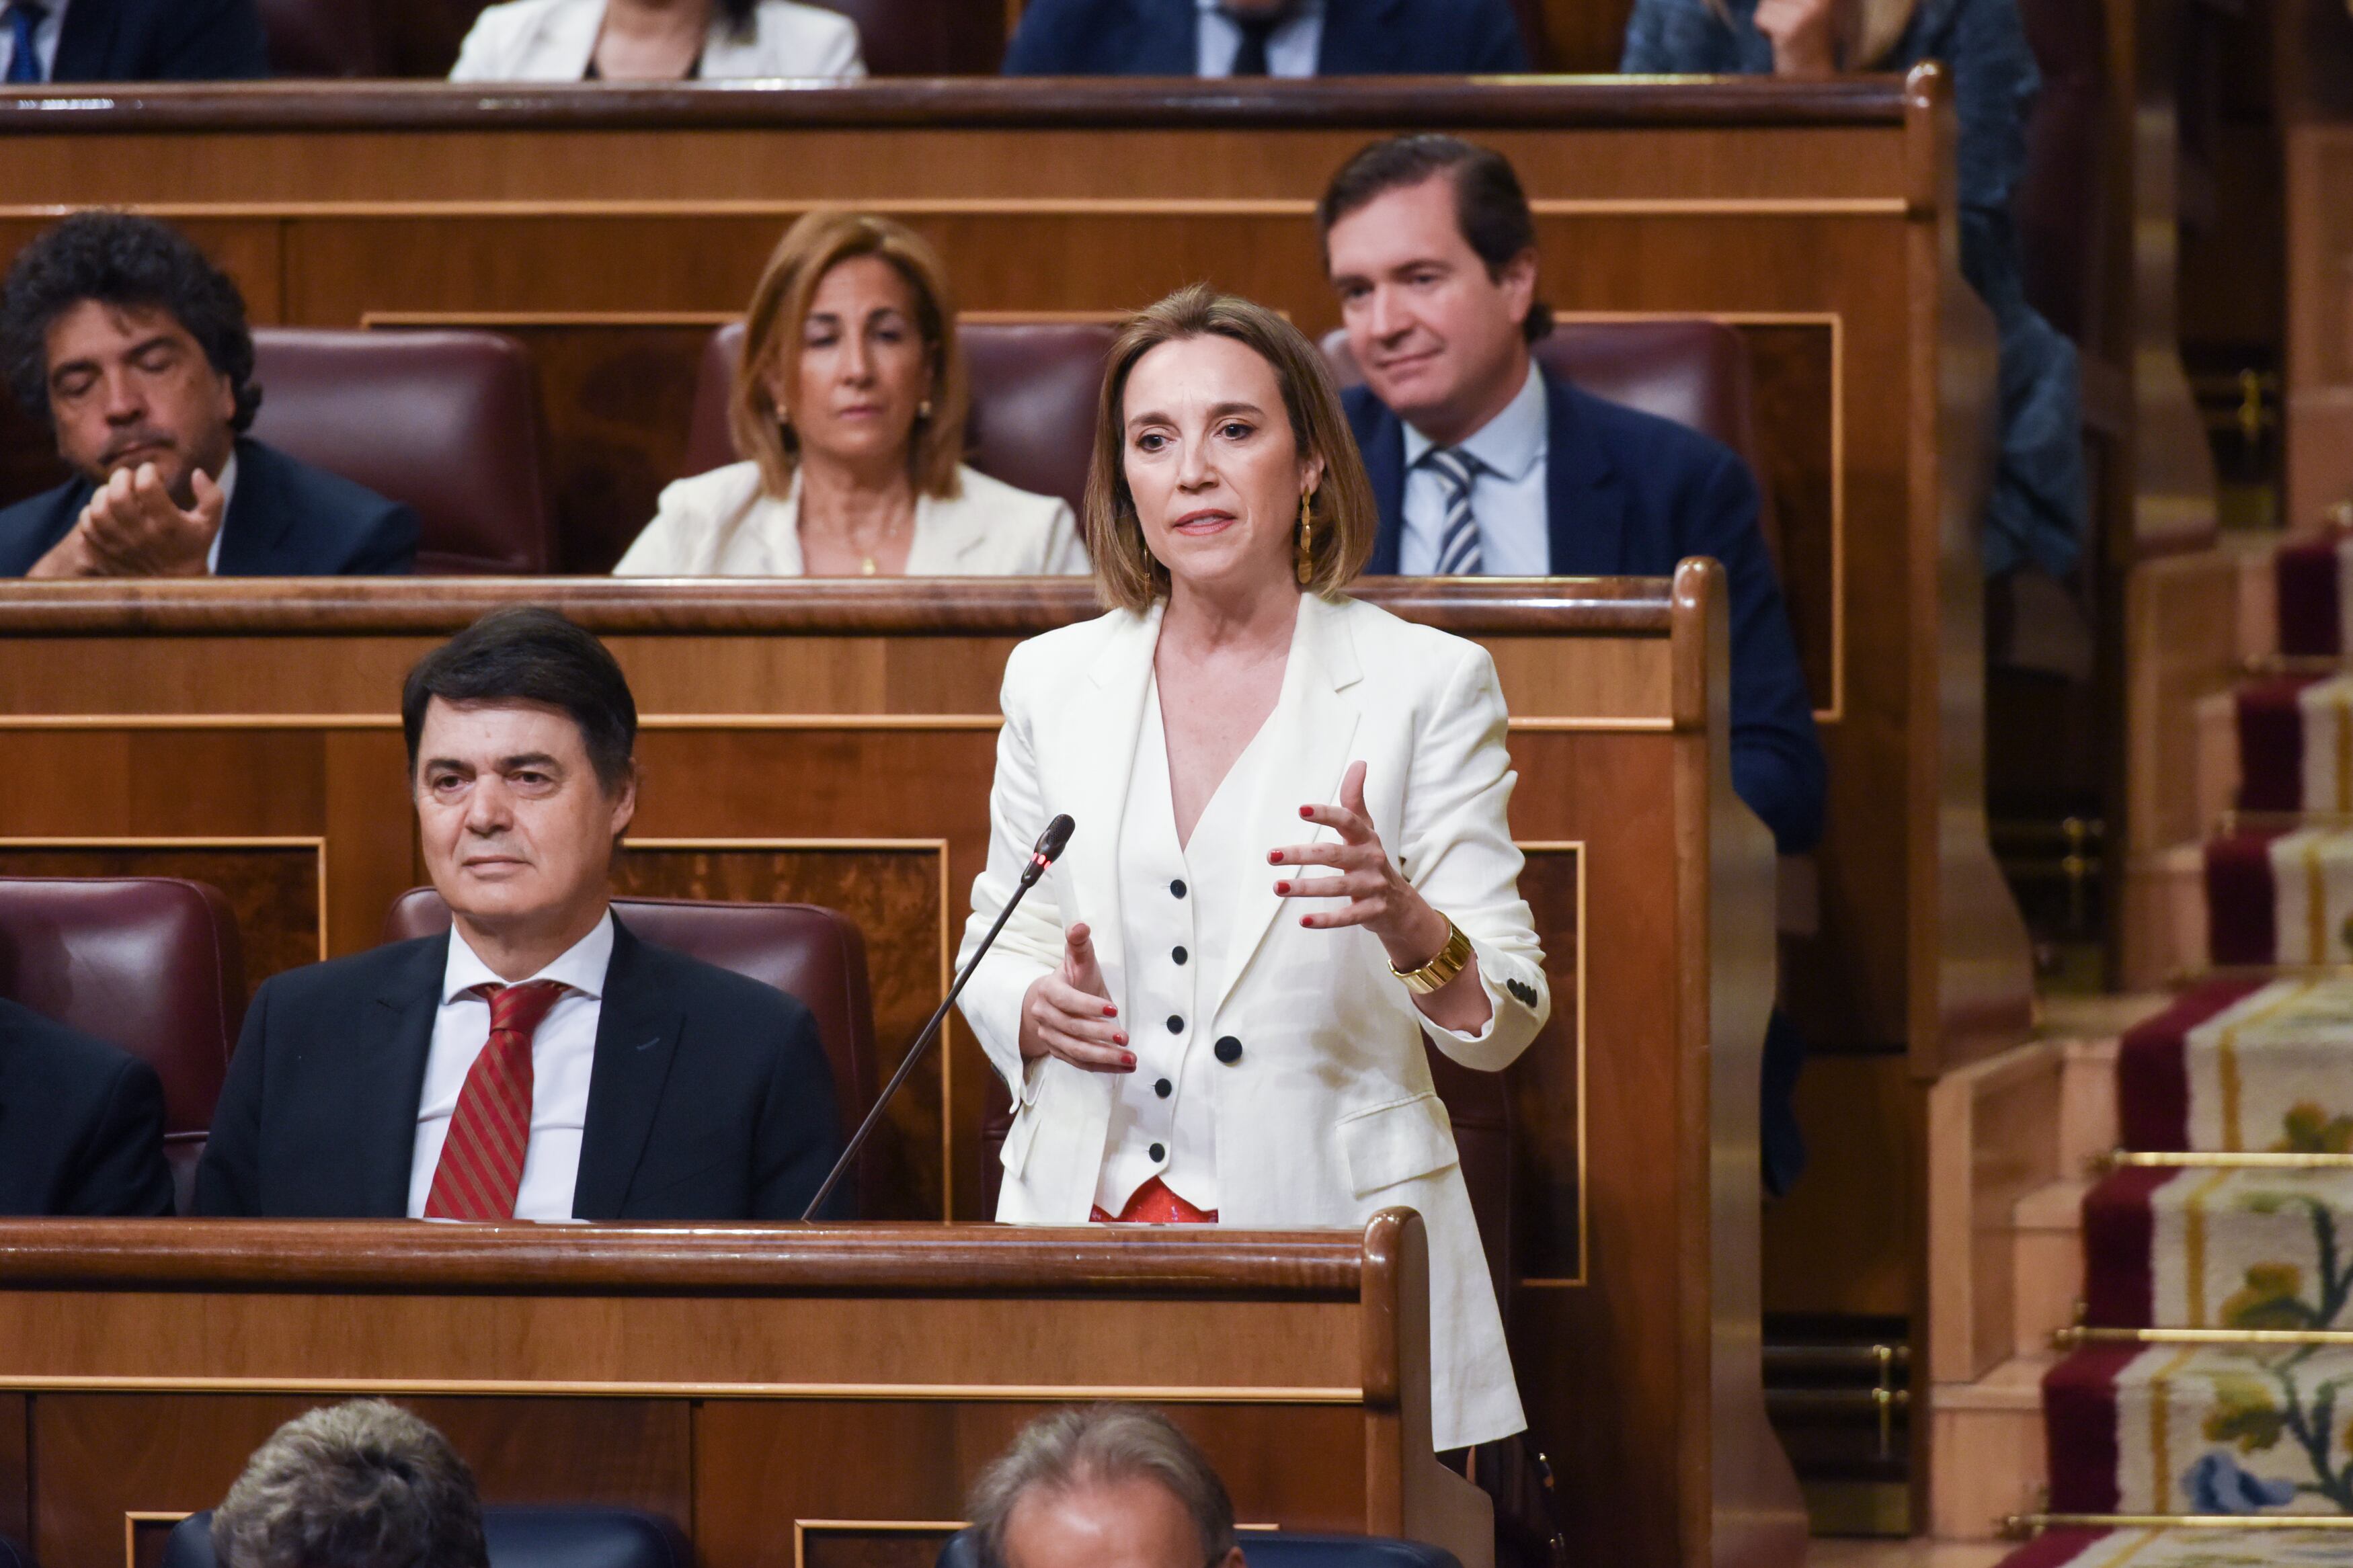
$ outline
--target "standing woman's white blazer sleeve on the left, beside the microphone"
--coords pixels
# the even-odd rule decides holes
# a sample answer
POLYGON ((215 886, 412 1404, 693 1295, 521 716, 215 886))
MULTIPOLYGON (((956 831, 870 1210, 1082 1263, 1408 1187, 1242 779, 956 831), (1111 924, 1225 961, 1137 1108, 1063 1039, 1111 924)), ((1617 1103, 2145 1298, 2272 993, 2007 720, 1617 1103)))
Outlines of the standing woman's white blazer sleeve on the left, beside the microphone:
MULTIPOLYGON (((1005 729, 998 731, 998 778, 988 790, 988 867, 972 882, 972 919, 965 922, 965 943, 955 954, 958 969, 969 961, 998 912, 1014 896, 1031 849, 1047 823, 1038 790, 1038 757, 1031 750, 1031 715, 1021 691, 1026 651, 1014 649, 1005 663, 1005 686, 998 696, 1005 729)), ((958 1004, 988 1053, 988 1063, 1019 1103, 1028 1103, 1035 1093, 1035 1074, 1024 1072, 1021 1063, 1021 1001, 1040 976, 1061 966, 1059 877, 1059 867, 1049 867, 1028 891, 1014 917, 1005 922, 995 947, 972 973, 958 1004)))

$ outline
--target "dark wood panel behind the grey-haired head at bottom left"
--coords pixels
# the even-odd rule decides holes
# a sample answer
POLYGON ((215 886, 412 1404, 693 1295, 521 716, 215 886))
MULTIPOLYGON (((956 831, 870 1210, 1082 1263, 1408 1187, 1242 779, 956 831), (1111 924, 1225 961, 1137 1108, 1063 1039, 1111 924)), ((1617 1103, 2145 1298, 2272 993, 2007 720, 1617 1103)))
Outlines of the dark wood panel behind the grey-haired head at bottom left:
MULTIPOLYGON (((35 1512, 45 1568, 118 1568, 125 1514, 214 1507, 299 1394, 42 1394, 35 1512)), ((605 1502, 692 1528, 685 1401, 400 1399, 449 1436, 485 1502, 605 1502)), ((169 1526, 139 1533, 141 1559, 169 1526)))

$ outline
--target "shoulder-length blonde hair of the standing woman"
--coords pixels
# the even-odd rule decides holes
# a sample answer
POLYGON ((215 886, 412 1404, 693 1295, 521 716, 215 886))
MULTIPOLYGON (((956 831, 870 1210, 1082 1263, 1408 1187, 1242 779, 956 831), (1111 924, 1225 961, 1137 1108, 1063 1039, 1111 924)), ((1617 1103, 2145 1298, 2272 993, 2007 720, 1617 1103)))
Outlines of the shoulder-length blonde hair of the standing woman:
POLYGON ((1162 343, 1207 336, 1233 339, 1266 360, 1282 388, 1282 411, 1292 418, 1299 456, 1322 458, 1322 482, 1308 503, 1306 590, 1337 595, 1372 559, 1379 510, 1365 458, 1355 451, 1355 433, 1339 407, 1332 369, 1287 320, 1205 282, 1139 310, 1111 346, 1104 400, 1094 411, 1094 465, 1087 470, 1085 529, 1096 592, 1106 604, 1141 614, 1169 590, 1169 569, 1144 541, 1136 498, 1127 491, 1127 376, 1162 343))

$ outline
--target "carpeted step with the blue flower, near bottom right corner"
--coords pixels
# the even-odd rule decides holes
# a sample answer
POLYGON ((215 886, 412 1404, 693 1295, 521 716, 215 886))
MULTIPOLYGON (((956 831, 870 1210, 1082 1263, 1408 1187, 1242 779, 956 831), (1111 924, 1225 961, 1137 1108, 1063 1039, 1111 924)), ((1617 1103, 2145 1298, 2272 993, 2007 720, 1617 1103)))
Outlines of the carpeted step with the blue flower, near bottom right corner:
POLYGON ((2348 1418, 2353 1345, 2087 1345, 2042 1380, 2049 1507, 2353 1516, 2348 1418))

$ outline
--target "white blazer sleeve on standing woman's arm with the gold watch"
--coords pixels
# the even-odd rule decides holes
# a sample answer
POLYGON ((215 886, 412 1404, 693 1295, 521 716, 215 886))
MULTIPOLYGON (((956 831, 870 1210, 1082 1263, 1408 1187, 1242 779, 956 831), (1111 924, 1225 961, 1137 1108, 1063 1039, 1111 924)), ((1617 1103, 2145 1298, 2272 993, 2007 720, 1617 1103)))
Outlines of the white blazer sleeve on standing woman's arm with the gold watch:
POLYGON ((1393 853, 1431 907, 1471 938, 1492 1006, 1478 1034, 1445 1030, 1428 1018, 1421 1030, 1464 1067, 1499 1072, 1544 1027, 1553 997, 1537 922, 1520 898, 1525 858, 1511 842, 1511 788, 1518 780, 1506 745, 1511 715, 1494 658, 1478 644, 1464 649, 1454 679, 1414 736, 1405 830, 1393 853))

